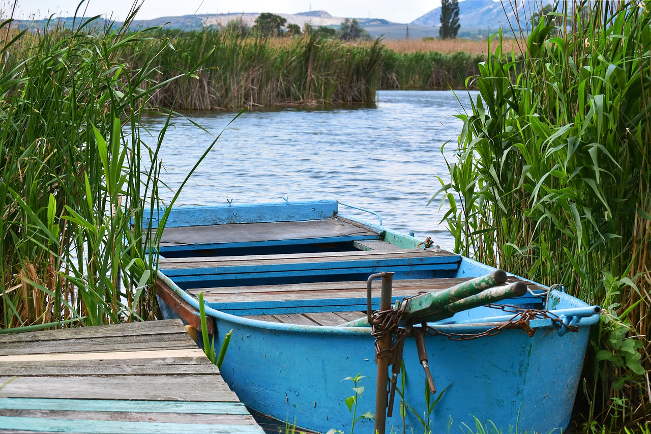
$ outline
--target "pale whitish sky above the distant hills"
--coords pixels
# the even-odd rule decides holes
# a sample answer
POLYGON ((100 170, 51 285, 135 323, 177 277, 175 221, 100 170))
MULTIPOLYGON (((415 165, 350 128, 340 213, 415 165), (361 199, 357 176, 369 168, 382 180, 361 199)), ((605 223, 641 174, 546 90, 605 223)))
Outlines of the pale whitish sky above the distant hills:
MULTIPOLYGON (((86 16, 105 14, 124 20, 132 0, 87 0, 86 16)), ((13 7, 12 0, 0 0, 5 16, 13 7)), ((50 14, 72 16, 79 0, 18 0, 14 18, 47 18, 50 14)), ((383 18, 396 23, 409 23, 441 5, 441 0, 144 0, 136 17, 151 20, 161 16, 224 14, 228 12, 272 12, 296 14, 309 10, 326 10, 343 18, 383 18)))

